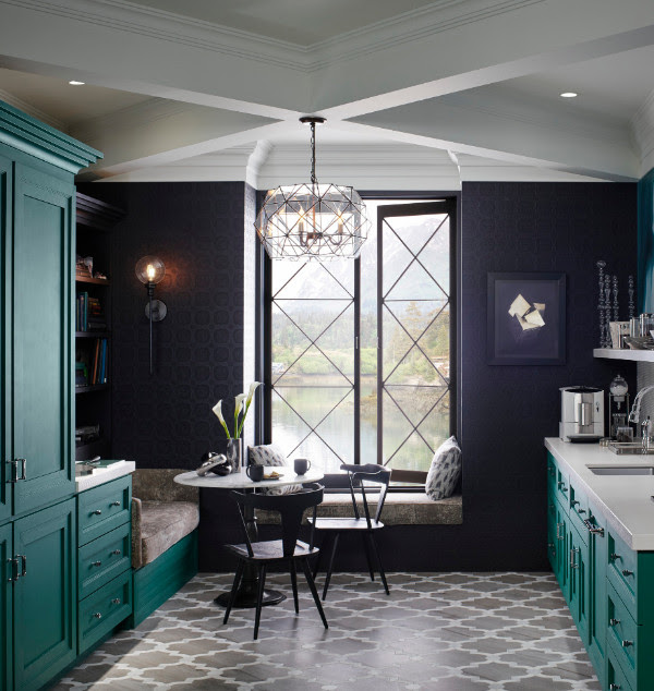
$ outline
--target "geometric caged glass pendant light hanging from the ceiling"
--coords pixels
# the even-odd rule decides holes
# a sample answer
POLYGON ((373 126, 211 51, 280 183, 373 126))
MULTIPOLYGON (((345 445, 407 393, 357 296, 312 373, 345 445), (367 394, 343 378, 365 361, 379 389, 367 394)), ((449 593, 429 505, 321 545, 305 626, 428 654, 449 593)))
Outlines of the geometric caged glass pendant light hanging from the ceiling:
POLYGON ((320 184, 316 179, 316 123, 311 125, 311 182, 283 185, 266 194, 256 219, 257 234, 271 259, 353 258, 365 242, 370 221, 365 204, 352 187, 320 184))

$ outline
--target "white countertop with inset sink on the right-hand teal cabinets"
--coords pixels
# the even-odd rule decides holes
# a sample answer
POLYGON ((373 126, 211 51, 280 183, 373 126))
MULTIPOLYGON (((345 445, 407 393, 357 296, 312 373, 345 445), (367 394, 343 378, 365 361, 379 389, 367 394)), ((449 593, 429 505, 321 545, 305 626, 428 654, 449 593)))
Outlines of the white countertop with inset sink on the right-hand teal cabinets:
POLYGON ((545 447, 632 549, 654 550, 654 475, 595 475, 588 468, 654 466, 654 456, 618 456, 597 444, 570 444, 556 437, 546 438, 545 447))

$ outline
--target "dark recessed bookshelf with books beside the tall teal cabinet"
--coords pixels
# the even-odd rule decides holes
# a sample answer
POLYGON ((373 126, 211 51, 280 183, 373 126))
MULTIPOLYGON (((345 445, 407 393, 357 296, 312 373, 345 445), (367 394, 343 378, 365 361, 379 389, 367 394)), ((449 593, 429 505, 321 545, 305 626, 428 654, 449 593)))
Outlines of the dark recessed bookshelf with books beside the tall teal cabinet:
POLYGON ((76 461, 112 456, 111 231, 123 215, 77 193, 76 255, 86 263, 75 270, 76 461))

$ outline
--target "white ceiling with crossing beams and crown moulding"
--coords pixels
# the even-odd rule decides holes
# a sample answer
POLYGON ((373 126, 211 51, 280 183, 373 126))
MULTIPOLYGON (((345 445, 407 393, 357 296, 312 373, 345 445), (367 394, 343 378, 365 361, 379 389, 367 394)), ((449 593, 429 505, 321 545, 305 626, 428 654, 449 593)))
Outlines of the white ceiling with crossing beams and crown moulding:
POLYGON ((652 64, 652 0, 0 0, 0 100, 102 150, 81 179, 299 181, 319 112, 358 187, 637 180, 652 64))

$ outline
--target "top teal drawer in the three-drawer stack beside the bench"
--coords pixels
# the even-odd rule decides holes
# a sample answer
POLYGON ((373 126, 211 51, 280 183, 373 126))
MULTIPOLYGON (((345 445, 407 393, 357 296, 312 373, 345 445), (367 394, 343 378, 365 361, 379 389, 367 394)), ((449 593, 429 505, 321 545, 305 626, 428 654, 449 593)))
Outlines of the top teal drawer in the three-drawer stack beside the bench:
POLYGON ((78 544, 85 545, 104 533, 130 522, 132 476, 125 475, 77 496, 78 544))

